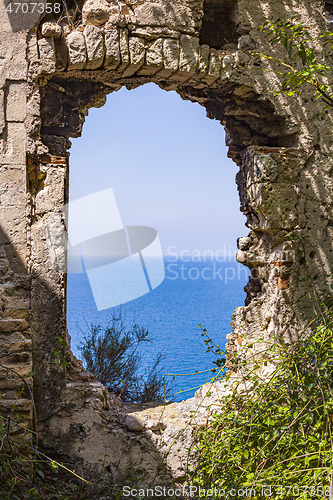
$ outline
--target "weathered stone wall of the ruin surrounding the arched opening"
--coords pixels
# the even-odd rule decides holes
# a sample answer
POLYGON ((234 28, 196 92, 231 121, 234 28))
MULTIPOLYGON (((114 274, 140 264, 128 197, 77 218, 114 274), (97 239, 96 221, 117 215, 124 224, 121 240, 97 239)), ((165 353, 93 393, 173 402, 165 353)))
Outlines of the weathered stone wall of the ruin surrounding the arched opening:
MULTIPOLYGON (((33 372, 26 380, 45 447, 97 467, 107 443, 116 450, 110 477, 141 459, 144 476, 159 456, 156 432, 167 446, 193 402, 173 405, 163 425, 148 409, 138 437, 127 410, 119 413, 79 362, 54 363, 56 339, 66 335, 66 276, 52 265, 46 220, 68 200, 69 139, 88 109, 123 85, 154 82, 204 106, 226 128, 250 230, 238 242, 238 261, 252 276, 232 317, 229 352, 261 337, 294 342, 313 317, 311 291, 332 292, 332 112, 320 113, 311 92, 275 97, 276 75, 250 53, 271 52, 257 30, 264 17, 295 14, 316 35, 328 29, 328 13, 321 0, 79 5, 82 14, 70 11, 60 26, 54 11, 17 15, 0 2, 0 409, 8 412, 23 387, 16 408, 31 425, 31 397, 17 374, 33 372)), ((322 57, 331 63, 329 51, 322 57)), ((168 464, 176 476, 182 446, 168 464)))

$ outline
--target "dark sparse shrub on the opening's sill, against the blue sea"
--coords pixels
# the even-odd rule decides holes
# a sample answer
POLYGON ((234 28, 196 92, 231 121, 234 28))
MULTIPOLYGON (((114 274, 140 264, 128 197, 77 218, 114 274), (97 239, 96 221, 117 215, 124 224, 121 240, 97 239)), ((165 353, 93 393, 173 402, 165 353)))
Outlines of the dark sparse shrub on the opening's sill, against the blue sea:
POLYGON ((83 335, 79 350, 87 370, 123 401, 163 401, 170 395, 170 383, 163 383, 162 353, 142 372, 142 346, 151 341, 148 329, 134 321, 127 325, 121 310, 106 327, 92 323, 83 335))

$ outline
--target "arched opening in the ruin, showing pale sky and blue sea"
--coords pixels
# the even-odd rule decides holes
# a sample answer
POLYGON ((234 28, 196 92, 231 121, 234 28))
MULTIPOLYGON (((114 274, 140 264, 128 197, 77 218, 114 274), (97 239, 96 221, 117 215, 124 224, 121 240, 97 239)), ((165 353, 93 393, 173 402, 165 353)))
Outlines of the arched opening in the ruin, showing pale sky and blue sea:
MULTIPOLYGON (((155 228, 164 255, 163 283, 123 305, 127 317, 135 315, 153 338, 143 367, 163 351, 166 373, 213 368, 198 324, 224 348, 248 279, 247 269, 235 261, 244 216, 223 128, 207 120, 198 104, 154 84, 123 87, 89 115, 71 147, 70 201, 112 188, 124 225, 155 228)), ((87 275, 69 274, 67 293, 71 347, 80 357, 77 325, 106 325, 113 309, 97 311, 87 275)), ((177 378, 174 392, 197 387, 211 375, 177 378)))

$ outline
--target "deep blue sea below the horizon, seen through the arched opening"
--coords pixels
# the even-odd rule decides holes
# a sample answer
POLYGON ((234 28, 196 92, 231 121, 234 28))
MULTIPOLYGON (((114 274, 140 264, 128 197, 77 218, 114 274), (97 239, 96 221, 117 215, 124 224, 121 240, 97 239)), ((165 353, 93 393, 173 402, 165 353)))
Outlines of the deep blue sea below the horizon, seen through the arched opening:
MULTIPOLYGON (((156 354, 163 351, 163 372, 177 374, 172 399, 180 401, 194 395, 209 380, 214 356, 206 353, 199 324, 224 349, 231 332, 230 320, 235 307, 243 306, 248 270, 234 260, 219 262, 209 259, 184 262, 164 259, 165 279, 154 290, 122 306, 127 320, 133 318, 147 327, 152 342, 144 344, 143 368, 152 365, 156 354), (178 376, 179 375, 179 376, 178 376)), ((67 327, 74 354, 80 358, 78 344, 86 324, 107 325, 113 309, 98 311, 88 276, 68 274, 67 327)), ((170 378, 173 378, 170 375, 170 378)))

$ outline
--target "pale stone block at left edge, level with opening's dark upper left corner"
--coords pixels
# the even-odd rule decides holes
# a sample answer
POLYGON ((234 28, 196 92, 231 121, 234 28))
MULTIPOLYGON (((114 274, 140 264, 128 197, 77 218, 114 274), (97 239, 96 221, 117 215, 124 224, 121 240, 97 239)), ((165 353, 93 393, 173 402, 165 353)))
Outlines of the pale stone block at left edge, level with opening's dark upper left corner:
POLYGON ((26 129, 24 123, 7 123, 7 140, 0 139, 0 164, 25 165, 26 129))

